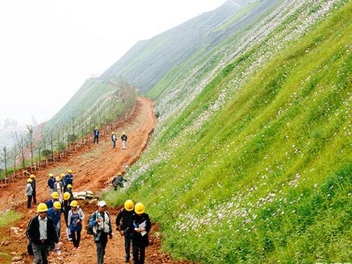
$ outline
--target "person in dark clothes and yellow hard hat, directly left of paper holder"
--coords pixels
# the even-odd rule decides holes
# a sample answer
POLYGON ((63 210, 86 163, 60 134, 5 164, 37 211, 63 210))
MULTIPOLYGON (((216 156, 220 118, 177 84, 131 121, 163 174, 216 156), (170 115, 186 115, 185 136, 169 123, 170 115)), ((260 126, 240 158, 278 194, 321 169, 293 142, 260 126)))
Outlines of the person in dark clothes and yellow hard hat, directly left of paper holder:
POLYGON ((116 217, 116 230, 125 240, 125 262, 130 262, 131 257, 131 230, 130 222, 133 215, 134 203, 132 200, 125 201, 124 207, 118 211, 116 217))

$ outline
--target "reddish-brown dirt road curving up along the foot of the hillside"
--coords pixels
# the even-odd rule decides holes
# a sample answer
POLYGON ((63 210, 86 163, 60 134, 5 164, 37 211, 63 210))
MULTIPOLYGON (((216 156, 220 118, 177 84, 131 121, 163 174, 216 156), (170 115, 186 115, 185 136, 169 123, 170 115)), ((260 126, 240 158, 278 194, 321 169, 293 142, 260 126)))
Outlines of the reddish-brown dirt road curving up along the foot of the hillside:
MULTIPOLYGON (((99 193, 110 187, 111 177, 118 172, 123 172, 126 165, 131 165, 136 161, 142 151, 146 148, 149 135, 153 132, 156 125, 156 118, 153 114, 153 102, 149 99, 137 98, 136 108, 132 117, 127 122, 122 123, 115 131, 118 135, 126 132, 128 136, 128 148, 123 150, 121 142, 118 141, 116 149, 113 149, 110 134, 103 135, 100 138, 99 146, 87 144, 82 146, 78 151, 73 151, 69 156, 62 158, 57 163, 49 165, 45 170, 39 170, 37 176, 37 200, 44 202, 49 199, 49 189, 46 185, 49 172, 55 175, 66 172, 69 168, 73 170, 73 191, 85 191, 87 189, 99 193)), ((30 218, 35 215, 35 210, 25 208, 26 197, 24 194, 25 180, 17 180, 0 192, 0 212, 7 208, 12 208, 24 217, 15 223, 19 227, 18 232, 11 232, 9 226, 0 230, 0 252, 11 253, 11 257, 19 258, 16 263, 32 263, 32 257, 26 253, 27 238, 25 237, 25 227, 30 218), (9 241, 10 243, 8 244, 9 241)), ((89 215, 96 210, 96 201, 81 201, 80 205, 86 215, 84 224, 87 224, 89 215)), ((115 217, 118 209, 109 208, 113 220, 113 239, 108 241, 106 248, 105 262, 123 263, 125 258, 125 249, 123 238, 115 232, 115 217)), ((73 245, 65 239, 65 221, 61 220, 61 259, 58 259, 56 253, 51 253, 49 260, 51 263, 96 263, 96 247, 92 236, 82 230, 82 240, 80 249, 73 251, 73 245)), ((151 246, 146 250, 146 263, 187 263, 172 260, 165 253, 161 253, 161 241, 158 237, 157 225, 153 225, 151 232, 151 246)), ((1 259, 0 262, 4 260, 1 259)), ((132 263, 132 261, 131 261, 132 263)))

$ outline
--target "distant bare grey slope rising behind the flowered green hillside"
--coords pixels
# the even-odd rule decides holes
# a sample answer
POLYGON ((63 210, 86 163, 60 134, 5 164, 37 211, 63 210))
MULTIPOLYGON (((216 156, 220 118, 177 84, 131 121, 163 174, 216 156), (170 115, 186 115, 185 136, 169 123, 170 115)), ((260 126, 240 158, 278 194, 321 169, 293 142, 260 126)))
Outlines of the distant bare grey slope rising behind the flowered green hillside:
POLYGON ((279 0, 230 0, 152 39, 138 42, 101 76, 122 76, 148 92, 172 68, 189 58, 200 60, 230 35, 275 6, 279 0))

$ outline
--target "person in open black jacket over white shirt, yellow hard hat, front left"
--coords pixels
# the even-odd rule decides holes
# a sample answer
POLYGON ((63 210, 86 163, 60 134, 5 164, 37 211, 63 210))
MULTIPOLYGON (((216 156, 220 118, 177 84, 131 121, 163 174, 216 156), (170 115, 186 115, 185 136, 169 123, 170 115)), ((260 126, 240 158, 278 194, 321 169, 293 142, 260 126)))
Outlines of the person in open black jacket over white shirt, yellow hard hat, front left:
POLYGON ((47 211, 46 204, 39 203, 38 214, 30 220, 26 230, 27 238, 30 240, 34 253, 34 264, 47 264, 50 244, 58 243, 58 233, 54 221, 47 217, 47 211))

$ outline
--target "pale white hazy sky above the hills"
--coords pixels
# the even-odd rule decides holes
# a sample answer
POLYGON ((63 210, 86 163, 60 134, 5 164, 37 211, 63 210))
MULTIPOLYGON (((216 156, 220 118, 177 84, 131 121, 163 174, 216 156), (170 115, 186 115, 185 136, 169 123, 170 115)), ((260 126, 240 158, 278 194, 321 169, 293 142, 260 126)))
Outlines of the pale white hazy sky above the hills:
POLYGON ((140 39, 225 0, 1 0, 0 124, 51 118, 140 39))

